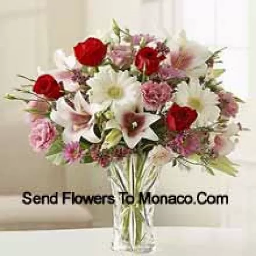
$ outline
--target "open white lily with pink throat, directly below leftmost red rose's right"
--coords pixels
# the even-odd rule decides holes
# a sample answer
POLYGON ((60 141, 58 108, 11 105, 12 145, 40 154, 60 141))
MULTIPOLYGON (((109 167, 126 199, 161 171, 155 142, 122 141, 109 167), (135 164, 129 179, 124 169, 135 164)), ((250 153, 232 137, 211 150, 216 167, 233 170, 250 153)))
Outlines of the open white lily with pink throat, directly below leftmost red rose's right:
POLYGON ((102 110, 99 104, 88 104, 80 91, 74 97, 72 108, 62 97, 56 103, 56 109, 51 112, 51 119, 64 127, 63 141, 66 143, 79 141, 81 137, 98 143, 100 139, 94 133, 95 113, 102 110))

